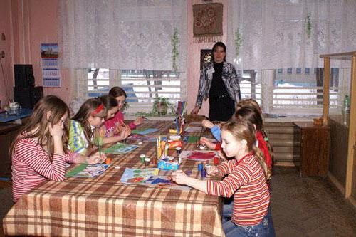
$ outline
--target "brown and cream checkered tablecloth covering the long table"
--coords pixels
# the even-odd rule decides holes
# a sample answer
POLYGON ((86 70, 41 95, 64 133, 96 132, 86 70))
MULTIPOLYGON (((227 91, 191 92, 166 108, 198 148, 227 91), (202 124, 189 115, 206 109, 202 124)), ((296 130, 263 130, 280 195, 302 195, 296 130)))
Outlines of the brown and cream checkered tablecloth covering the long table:
MULTIPOLYGON (((172 122, 147 122, 167 135, 172 122)), ((199 135, 199 132, 189 135, 199 135)), ((184 149, 195 144, 184 142, 184 149)), ((95 178, 45 181, 25 194, 4 218, 6 235, 29 236, 224 236, 221 199, 195 189, 177 190, 120 183, 125 167, 143 167, 140 154, 155 155, 145 142, 95 178), (120 169, 115 168, 120 166, 120 169)), ((112 156, 111 156, 112 157, 112 156)), ((150 164, 150 167, 154 167, 150 164)), ((183 170, 199 177, 197 162, 183 160, 183 170)))

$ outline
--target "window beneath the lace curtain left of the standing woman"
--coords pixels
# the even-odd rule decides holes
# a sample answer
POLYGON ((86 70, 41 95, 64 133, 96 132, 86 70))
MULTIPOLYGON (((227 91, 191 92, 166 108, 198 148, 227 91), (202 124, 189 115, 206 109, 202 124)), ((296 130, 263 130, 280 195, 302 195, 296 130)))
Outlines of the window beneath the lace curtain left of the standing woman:
POLYGON ((150 112, 157 97, 177 103, 186 100, 184 73, 168 70, 109 70, 89 68, 86 74, 88 97, 97 97, 120 86, 127 94, 128 113, 150 112))

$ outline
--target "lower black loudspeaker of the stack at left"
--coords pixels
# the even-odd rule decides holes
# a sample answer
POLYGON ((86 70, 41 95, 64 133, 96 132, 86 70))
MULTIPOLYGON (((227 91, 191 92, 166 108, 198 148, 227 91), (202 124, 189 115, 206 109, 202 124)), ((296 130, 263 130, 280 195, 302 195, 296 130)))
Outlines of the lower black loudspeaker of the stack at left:
POLYGON ((43 87, 41 86, 36 86, 35 88, 14 88, 14 100, 21 107, 33 109, 41 98, 43 98, 43 87))

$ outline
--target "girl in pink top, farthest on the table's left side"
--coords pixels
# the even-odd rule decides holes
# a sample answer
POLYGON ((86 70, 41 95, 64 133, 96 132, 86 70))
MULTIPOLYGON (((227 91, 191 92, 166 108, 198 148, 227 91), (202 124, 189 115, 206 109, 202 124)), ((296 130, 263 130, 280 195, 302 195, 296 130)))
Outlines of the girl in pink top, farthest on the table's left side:
MULTIPOLYGON (((111 120, 117 112, 119 111, 118 103, 115 97, 112 95, 103 95, 100 97, 101 102, 103 102, 103 105, 105 106, 107 113, 105 117, 105 121, 111 120)), ((112 127, 106 128, 106 126, 103 126, 103 129, 105 130, 105 137, 103 138, 103 143, 114 143, 114 142, 119 142, 123 139, 126 139, 130 133, 130 127, 127 127, 122 121, 121 124, 119 124, 117 127, 115 127, 115 130, 112 130, 112 127)))

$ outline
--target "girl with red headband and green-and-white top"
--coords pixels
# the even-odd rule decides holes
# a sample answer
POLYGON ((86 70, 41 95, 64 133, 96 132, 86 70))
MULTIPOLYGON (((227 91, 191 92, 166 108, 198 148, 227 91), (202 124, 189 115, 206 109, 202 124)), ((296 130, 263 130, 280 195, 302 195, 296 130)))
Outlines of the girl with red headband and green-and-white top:
MULTIPOLYGON (((78 112, 70 120, 69 146, 75 153, 90 154, 95 147, 95 129, 99 129, 107 116, 106 108, 98 98, 86 100, 78 112)), ((108 137, 97 132, 100 136, 101 144, 112 142, 108 137)), ((127 128, 124 127, 117 139, 125 139, 127 128), (124 138, 122 138, 124 137, 124 138)), ((97 144, 98 145, 98 144, 97 144)))

